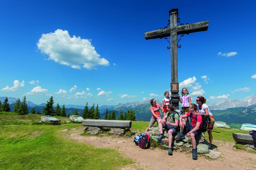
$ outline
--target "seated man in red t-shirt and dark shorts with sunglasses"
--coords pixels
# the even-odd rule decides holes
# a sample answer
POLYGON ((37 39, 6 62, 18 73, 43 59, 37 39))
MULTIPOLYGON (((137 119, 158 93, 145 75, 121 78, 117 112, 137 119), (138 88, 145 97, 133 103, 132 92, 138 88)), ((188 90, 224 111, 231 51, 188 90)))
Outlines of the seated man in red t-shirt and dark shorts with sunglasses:
POLYGON ((192 158, 194 160, 197 160, 197 152, 196 152, 196 139, 198 136, 201 135, 202 131, 202 116, 197 115, 197 105, 192 103, 189 107, 189 112, 185 115, 182 115, 179 117, 179 126, 180 126, 180 132, 176 140, 184 139, 185 135, 183 134, 183 130, 186 129, 189 131, 187 133, 187 137, 190 136, 191 143, 192 143, 192 158), (188 123, 185 119, 185 117, 190 117, 191 119, 191 125, 188 123))

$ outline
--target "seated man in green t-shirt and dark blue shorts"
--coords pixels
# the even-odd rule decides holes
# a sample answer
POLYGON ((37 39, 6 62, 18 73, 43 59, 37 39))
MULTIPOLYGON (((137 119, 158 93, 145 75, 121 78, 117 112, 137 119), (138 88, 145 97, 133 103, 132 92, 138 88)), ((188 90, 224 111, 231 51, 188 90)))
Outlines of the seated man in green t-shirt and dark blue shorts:
POLYGON ((161 140, 164 138, 163 133, 163 127, 168 131, 168 139, 169 139, 169 148, 168 148, 168 154, 173 155, 172 151, 172 141, 173 141, 173 134, 176 133, 177 127, 179 126, 179 116, 178 113, 174 113, 174 105, 169 104, 166 108, 168 111, 166 115, 163 117, 163 119, 158 119, 158 126, 160 129, 160 135, 156 138, 158 140, 161 140), (174 116, 173 116, 174 113, 174 116), (165 122, 166 118, 169 118, 168 122, 165 122))

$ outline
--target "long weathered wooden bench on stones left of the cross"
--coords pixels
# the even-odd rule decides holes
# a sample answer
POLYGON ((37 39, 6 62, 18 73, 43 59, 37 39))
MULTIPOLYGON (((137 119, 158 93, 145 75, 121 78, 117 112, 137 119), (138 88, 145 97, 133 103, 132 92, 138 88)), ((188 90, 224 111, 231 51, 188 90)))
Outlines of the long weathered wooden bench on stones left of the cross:
POLYGON ((94 127, 115 127, 115 128, 131 128, 131 120, 94 120, 87 119, 82 121, 83 126, 94 127))

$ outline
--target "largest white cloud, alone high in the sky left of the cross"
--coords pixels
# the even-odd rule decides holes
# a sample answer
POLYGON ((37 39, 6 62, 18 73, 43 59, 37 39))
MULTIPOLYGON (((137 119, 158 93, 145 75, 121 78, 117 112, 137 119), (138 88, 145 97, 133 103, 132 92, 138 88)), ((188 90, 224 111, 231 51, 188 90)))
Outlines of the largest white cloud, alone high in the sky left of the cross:
POLYGON ((57 29, 54 33, 42 34, 36 43, 43 54, 47 54, 48 60, 56 63, 81 69, 92 69, 94 66, 109 66, 108 60, 101 58, 92 46, 91 40, 81 37, 70 37, 68 31, 57 29))

